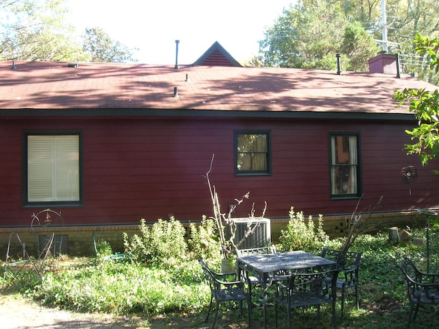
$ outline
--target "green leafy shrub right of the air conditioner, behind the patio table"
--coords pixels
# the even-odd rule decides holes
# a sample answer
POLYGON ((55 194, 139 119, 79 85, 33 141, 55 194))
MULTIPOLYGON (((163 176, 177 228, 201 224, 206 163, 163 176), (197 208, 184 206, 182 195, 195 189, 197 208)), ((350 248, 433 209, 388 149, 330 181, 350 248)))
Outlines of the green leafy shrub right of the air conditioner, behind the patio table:
POLYGON ((319 215, 316 223, 309 216, 305 221, 303 212, 289 210, 289 222, 286 230, 281 231, 278 249, 283 252, 305 250, 320 252, 320 249, 329 241, 329 236, 323 230, 323 218, 319 215))

